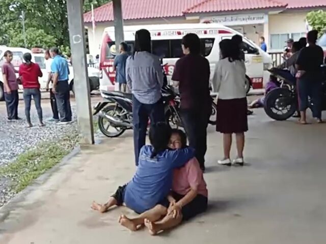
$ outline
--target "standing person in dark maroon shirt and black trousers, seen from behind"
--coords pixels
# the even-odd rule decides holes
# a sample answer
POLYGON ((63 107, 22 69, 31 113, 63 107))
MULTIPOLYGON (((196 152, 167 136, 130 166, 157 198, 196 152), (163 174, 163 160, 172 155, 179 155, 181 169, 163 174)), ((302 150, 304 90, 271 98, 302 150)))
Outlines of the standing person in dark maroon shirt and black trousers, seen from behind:
POLYGON ((196 34, 182 38, 182 50, 185 56, 177 61, 172 80, 179 82, 181 117, 189 146, 196 149, 196 158, 205 170, 206 129, 212 103, 209 62, 200 54, 200 39, 196 34))

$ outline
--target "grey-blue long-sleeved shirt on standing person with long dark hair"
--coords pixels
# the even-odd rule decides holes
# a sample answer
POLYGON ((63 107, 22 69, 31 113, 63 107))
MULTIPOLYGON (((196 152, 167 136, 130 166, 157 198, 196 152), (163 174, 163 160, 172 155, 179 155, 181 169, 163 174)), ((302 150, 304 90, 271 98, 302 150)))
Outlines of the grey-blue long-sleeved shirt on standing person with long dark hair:
POLYGON ((136 52, 127 58, 127 84, 141 103, 154 104, 161 98, 163 71, 159 58, 149 52, 136 52))

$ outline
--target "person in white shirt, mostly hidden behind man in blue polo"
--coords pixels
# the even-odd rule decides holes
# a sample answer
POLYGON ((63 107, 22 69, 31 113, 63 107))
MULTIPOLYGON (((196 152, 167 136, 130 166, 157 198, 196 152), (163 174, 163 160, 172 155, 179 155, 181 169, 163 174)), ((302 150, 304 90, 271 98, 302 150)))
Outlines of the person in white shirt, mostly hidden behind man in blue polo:
POLYGON ((49 49, 45 50, 44 58, 45 58, 45 70, 47 72, 46 90, 49 90, 49 93, 50 93, 50 104, 51 104, 51 109, 52 109, 52 113, 53 113, 53 117, 50 118, 49 120, 59 121, 59 111, 58 111, 58 106, 57 106, 57 99, 56 99, 56 95, 52 91, 53 81, 52 81, 51 64, 52 64, 53 59, 51 58, 49 49))

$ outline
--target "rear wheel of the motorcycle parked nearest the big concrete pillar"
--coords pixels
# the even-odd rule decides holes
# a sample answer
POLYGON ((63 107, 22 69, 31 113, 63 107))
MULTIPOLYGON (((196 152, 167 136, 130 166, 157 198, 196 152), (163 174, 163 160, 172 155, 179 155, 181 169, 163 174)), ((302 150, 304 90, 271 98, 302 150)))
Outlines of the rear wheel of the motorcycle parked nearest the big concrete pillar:
MULTIPOLYGON (((121 113, 122 109, 117 107, 116 105, 110 105, 102 110, 104 113, 110 114, 114 117, 120 117, 119 113, 121 113)), ((105 119, 104 117, 98 116, 98 128, 100 131, 107 137, 118 137, 121 136, 125 132, 125 128, 114 127, 111 123, 105 119), (112 129, 112 132, 109 131, 112 129)))

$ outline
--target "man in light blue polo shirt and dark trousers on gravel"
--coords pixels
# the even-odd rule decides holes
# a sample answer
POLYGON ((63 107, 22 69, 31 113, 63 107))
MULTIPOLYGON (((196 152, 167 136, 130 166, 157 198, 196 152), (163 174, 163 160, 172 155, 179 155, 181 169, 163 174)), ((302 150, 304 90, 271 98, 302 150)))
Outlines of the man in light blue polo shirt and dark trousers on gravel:
POLYGON ((71 122, 71 107, 70 107, 70 87, 69 87, 69 67, 67 60, 59 55, 59 49, 52 47, 50 49, 51 57, 51 72, 53 74, 52 91, 56 94, 57 106, 60 114, 59 124, 65 125, 71 122))

